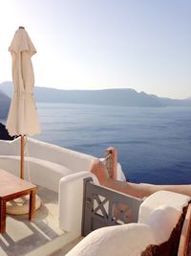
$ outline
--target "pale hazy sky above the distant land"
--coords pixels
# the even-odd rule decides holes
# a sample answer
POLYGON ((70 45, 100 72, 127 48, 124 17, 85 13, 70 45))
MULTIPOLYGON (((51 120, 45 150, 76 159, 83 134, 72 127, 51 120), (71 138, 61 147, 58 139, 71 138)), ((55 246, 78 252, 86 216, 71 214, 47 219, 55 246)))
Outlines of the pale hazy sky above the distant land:
POLYGON ((0 82, 19 25, 37 50, 35 85, 191 97, 190 0, 1 0, 0 82))

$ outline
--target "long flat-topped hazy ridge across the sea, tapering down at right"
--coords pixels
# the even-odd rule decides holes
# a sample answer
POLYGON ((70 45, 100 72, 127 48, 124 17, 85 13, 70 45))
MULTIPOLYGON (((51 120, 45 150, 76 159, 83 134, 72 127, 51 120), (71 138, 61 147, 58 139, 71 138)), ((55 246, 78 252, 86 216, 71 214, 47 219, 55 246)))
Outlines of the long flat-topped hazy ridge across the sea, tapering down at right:
MULTIPOLYGON (((11 82, 0 84, 0 88, 11 96, 11 82)), ((60 90, 55 88, 34 87, 36 102, 67 103, 84 105, 128 105, 162 106, 158 99, 134 89, 102 90, 60 90)))

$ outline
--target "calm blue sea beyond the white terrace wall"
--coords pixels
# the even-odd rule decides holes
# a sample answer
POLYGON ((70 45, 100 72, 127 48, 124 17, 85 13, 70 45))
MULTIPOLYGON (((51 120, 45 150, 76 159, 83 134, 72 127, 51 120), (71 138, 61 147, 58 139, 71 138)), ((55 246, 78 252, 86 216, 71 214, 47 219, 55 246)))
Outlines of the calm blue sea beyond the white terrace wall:
POLYGON ((130 181, 191 183, 191 107, 37 104, 41 133, 34 138, 103 157, 117 148, 130 181))

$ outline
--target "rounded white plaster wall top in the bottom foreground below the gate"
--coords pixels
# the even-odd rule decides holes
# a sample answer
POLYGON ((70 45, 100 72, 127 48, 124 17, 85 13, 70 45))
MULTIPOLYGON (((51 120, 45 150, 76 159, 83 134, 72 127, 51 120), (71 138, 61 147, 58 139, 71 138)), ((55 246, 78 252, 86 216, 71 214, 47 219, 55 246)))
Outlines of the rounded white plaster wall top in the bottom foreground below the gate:
POLYGON ((140 256, 149 244, 155 244, 155 238, 146 224, 109 226, 90 233, 67 256, 140 256))

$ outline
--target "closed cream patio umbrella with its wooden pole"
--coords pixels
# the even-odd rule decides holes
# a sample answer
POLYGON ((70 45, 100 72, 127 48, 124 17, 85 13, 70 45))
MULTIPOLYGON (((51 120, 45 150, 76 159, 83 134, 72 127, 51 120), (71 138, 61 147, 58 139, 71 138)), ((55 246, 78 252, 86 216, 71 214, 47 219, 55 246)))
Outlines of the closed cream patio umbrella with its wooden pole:
POLYGON ((21 136, 21 178, 24 178, 24 137, 40 132, 33 97, 32 56, 36 50, 24 27, 15 32, 9 48, 12 58, 13 97, 6 128, 11 136, 21 136))

